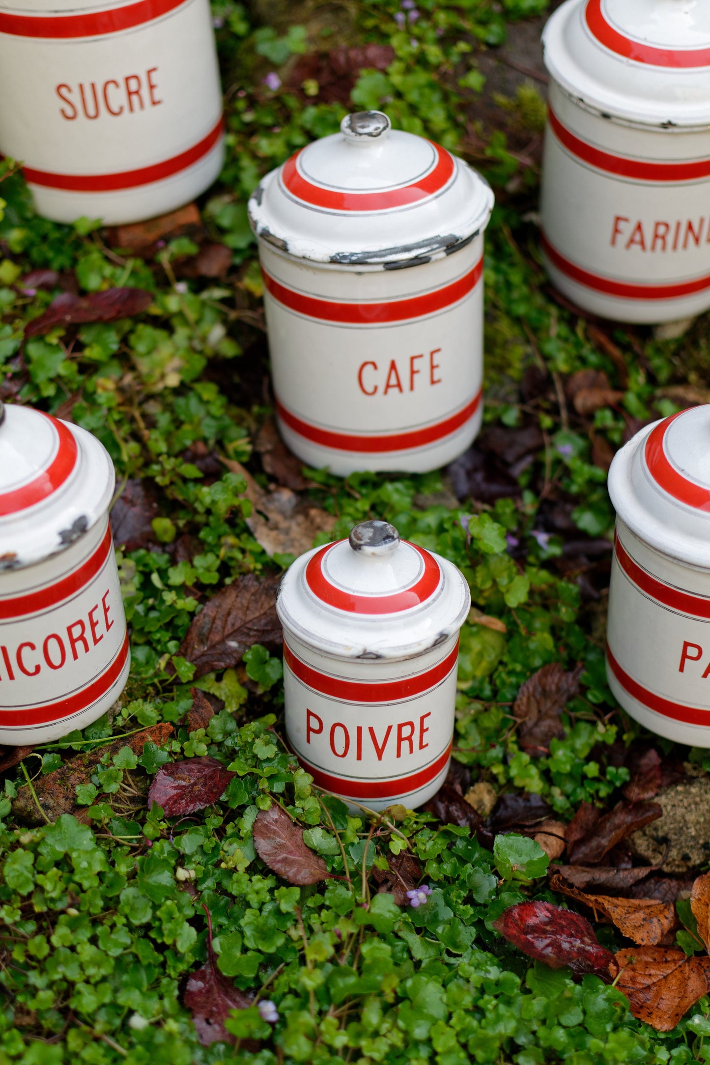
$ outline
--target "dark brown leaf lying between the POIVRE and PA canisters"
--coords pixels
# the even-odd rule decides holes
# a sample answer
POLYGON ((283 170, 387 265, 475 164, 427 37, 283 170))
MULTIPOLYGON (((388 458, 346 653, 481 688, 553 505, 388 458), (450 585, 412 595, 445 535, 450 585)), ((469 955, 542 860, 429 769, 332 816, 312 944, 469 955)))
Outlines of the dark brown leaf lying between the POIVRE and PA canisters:
POLYGON ((517 693, 513 706, 514 717, 522 722, 518 740, 523 750, 540 757, 547 754, 550 740, 560 739, 564 728, 560 720, 562 710, 579 691, 582 674, 581 662, 565 672, 562 662, 550 662, 533 673, 517 693))

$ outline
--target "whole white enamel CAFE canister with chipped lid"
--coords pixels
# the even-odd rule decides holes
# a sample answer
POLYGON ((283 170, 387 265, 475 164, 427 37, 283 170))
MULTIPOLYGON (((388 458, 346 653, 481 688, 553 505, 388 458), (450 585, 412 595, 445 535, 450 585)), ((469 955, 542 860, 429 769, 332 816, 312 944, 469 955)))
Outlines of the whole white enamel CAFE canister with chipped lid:
POLYGON ((484 180, 386 115, 343 119, 249 200, 281 435, 312 466, 422 472, 481 423, 484 180))

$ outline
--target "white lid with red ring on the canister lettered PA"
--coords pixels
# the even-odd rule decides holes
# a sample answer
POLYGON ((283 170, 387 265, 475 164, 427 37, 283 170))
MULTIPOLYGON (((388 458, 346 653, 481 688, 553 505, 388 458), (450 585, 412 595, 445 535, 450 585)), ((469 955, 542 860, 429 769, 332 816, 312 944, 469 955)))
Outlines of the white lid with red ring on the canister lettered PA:
POLYGON ((642 540, 710 568, 710 405, 646 426, 614 456, 609 494, 642 540))

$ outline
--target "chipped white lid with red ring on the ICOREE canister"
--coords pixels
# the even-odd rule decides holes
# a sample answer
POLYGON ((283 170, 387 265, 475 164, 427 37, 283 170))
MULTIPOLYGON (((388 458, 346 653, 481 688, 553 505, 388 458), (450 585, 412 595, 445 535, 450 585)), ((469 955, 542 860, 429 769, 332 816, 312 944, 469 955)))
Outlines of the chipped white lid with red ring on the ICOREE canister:
POLYGON ((0 570, 63 551, 100 518, 113 463, 85 429, 0 403, 0 570))

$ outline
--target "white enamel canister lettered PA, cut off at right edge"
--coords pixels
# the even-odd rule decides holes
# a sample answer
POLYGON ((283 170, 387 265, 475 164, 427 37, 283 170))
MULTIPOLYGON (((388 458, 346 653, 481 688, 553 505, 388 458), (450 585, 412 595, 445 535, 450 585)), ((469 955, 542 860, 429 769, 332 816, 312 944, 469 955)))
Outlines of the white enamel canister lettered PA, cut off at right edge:
POLYGON ((647 728, 710 747, 710 406, 638 432, 609 492, 609 684, 647 728))

